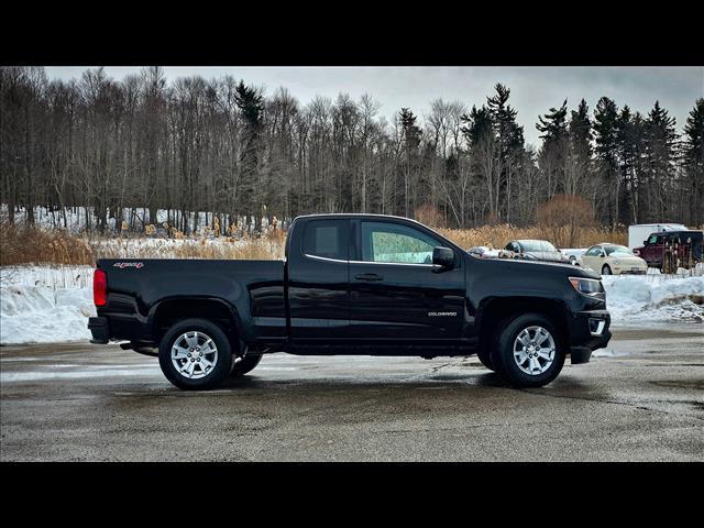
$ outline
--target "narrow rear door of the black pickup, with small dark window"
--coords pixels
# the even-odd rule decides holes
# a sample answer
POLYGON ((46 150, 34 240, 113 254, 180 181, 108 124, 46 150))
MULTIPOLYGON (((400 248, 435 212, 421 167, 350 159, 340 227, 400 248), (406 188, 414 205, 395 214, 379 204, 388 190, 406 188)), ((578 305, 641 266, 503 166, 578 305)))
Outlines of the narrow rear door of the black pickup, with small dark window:
POLYGON ((298 340, 336 340, 350 327, 350 220, 306 220, 289 246, 290 336, 298 340))

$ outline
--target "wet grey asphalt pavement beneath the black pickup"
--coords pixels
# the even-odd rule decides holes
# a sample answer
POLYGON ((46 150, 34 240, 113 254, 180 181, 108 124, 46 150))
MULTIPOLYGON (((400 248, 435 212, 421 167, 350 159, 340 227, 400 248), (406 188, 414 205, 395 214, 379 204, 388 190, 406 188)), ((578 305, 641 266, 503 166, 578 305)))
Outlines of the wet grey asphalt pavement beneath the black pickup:
POLYGON ((273 354, 185 393, 117 345, 0 348, 0 460, 704 461, 704 326, 616 329, 550 385, 475 356, 273 354))

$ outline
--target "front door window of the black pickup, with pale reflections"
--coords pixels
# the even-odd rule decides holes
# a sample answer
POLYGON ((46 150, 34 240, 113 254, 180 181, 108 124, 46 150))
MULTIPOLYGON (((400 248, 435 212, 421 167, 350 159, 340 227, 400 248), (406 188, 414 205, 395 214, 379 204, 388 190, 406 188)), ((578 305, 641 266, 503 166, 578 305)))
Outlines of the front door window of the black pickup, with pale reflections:
POLYGON ((362 222, 362 261, 432 264, 432 250, 438 240, 407 226, 386 222, 362 222))

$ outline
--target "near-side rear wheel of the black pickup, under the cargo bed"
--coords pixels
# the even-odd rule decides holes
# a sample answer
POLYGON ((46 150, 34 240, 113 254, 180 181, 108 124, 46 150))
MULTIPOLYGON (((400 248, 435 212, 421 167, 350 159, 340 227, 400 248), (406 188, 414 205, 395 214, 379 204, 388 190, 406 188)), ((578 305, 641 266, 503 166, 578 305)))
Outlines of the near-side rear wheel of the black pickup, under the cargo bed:
POLYGON ((178 321, 162 338, 158 364, 178 388, 216 388, 232 367, 230 341, 220 327, 206 319, 178 321))

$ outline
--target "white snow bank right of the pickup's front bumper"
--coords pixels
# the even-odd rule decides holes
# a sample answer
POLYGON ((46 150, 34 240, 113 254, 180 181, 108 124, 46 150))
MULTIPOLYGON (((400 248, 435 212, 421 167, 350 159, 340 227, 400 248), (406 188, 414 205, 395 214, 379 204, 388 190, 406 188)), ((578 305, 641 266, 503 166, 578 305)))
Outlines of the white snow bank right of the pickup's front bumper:
POLYGON ((613 324, 704 322, 704 277, 602 277, 613 324))

